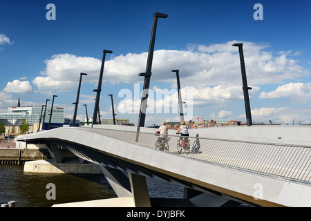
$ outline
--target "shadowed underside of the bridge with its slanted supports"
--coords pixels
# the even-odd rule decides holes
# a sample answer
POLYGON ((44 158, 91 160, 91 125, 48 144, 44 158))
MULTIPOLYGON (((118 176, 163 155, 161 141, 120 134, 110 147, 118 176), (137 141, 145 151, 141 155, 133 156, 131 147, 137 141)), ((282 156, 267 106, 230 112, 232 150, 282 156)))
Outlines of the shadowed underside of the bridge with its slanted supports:
MULTIPOLYGON (((120 199, 132 200, 126 201, 127 204, 136 207, 193 207, 193 206, 207 206, 207 207, 225 207, 225 206, 240 206, 252 205, 257 206, 251 202, 240 200, 232 196, 208 189, 203 186, 198 186, 180 180, 171 175, 160 173, 158 171, 147 169, 146 167, 128 162, 126 160, 112 157, 100 151, 87 146, 65 142, 62 140, 48 140, 48 142, 41 141, 41 144, 46 144, 48 149, 55 158, 57 163, 62 163, 63 157, 59 152, 59 148, 66 148, 68 151, 79 157, 79 161, 83 164, 84 161, 93 162, 100 165, 102 173, 106 180, 111 184, 116 195, 120 199), (162 180, 163 182, 170 182, 178 184, 184 188, 183 198, 149 198, 149 191, 146 177, 162 180)), ((30 143, 28 143, 30 144, 30 143)), ((159 186, 159 188, 161 188, 159 186)), ((55 206, 66 206, 67 204, 60 204, 55 206)), ((81 204, 68 204, 68 206, 75 206, 81 204)), ((88 204, 86 204, 88 205, 88 204)), ((104 203, 104 205, 106 205, 104 203)))

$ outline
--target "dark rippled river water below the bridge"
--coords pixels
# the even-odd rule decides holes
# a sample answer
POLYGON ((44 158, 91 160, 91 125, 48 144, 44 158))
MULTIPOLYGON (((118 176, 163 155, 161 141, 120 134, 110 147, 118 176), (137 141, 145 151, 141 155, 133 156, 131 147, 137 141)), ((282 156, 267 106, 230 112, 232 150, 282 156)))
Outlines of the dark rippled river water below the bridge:
MULTIPOLYGON (((175 184, 147 179, 147 185, 151 198, 182 198, 183 189, 175 184)), ((17 207, 50 207, 115 197, 104 175, 25 173, 23 165, 0 165, 0 204, 15 201, 17 207), (55 184, 55 200, 46 198, 50 183, 55 184)))

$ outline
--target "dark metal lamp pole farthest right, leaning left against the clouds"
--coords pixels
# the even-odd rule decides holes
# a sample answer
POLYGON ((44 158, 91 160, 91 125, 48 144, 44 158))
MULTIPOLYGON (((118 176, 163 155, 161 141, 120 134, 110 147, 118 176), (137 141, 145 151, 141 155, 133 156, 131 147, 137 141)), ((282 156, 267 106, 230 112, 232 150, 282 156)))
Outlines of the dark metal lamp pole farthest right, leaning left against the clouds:
POLYGON ((232 46, 238 47, 238 52, 240 54, 246 120, 247 120, 247 126, 252 126, 252 113, 251 113, 251 109, 250 109, 249 94, 248 94, 248 90, 251 90, 252 88, 249 88, 247 86, 247 78, 246 78, 244 55, 243 55, 243 44, 237 43, 237 44, 233 44, 232 46))

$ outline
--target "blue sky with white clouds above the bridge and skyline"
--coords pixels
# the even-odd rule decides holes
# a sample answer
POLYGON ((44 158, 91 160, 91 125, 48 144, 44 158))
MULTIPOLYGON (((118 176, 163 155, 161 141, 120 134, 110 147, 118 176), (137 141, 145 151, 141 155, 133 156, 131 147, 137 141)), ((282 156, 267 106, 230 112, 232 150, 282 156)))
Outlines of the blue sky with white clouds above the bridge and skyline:
POLYGON ((243 43, 253 88, 253 121, 311 124, 307 0, 1 1, 0 112, 16 106, 18 97, 22 106, 41 106, 58 95, 55 105, 72 118, 84 72, 78 118, 85 117, 83 104, 93 115, 93 89, 106 49, 113 54, 106 56, 102 118, 112 119, 107 95, 113 94, 117 119, 137 125, 144 79, 138 73, 146 69, 154 12, 169 17, 158 19, 146 126, 179 120, 173 69, 180 70, 187 119, 245 122, 236 42, 243 43), (56 7, 56 20, 46 19, 48 3, 56 7), (263 20, 253 17, 256 3, 263 6, 263 20))

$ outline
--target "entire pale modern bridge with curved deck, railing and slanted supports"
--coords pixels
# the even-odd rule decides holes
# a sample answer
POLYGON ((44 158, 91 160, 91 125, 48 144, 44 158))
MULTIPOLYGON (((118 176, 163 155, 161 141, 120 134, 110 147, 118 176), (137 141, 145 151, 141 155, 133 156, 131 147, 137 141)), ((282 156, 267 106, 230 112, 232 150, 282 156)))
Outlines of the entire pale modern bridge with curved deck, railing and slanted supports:
MULTIPOLYGON (((55 128, 17 141, 59 147, 100 165, 128 206, 311 206, 310 126, 230 126, 189 130, 190 150, 169 131, 155 148, 154 128, 93 125, 55 128), (149 198, 146 177, 184 186, 184 199, 149 198)), ((115 199, 115 200, 117 200, 115 199)), ((124 204, 123 204, 124 205, 124 204)))

